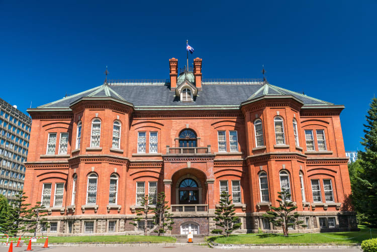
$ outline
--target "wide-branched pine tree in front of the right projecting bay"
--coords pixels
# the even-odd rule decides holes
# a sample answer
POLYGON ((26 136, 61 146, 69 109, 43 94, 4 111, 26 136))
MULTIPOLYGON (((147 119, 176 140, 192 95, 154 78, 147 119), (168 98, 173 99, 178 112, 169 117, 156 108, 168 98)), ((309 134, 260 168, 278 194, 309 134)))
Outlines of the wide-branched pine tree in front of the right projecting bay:
MULTIPOLYGON (((289 190, 281 188, 281 192, 277 193, 279 199, 276 199, 276 201, 279 202, 279 206, 270 206, 273 211, 267 211, 263 214, 263 217, 268 218, 275 226, 281 226, 284 235, 288 236, 290 226, 302 224, 304 221, 298 220, 300 214, 297 211, 292 214, 297 206, 290 206, 293 202, 289 190)), ((306 225, 301 226, 306 227, 306 225)))

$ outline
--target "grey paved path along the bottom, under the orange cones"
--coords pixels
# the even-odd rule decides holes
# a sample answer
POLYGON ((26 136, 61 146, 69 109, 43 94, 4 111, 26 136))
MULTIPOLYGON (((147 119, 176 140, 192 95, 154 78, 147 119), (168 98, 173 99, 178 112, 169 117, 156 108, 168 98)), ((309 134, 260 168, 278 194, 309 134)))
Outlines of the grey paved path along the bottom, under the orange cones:
MULTIPOLYGON (((33 252, 45 251, 45 252, 107 252, 111 250, 111 252, 225 252, 229 250, 220 249, 220 248, 210 248, 208 246, 200 246, 200 245, 191 245, 191 246, 174 246, 169 245, 168 247, 161 247, 161 246, 122 246, 122 247, 64 247, 64 246, 51 246, 49 248, 42 248, 42 245, 33 244, 32 248, 34 249, 33 252)), ((14 247, 13 252, 23 252, 25 251, 26 246, 24 247, 14 247)), ((237 249, 237 251, 241 252, 251 252, 256 249, 237 249)), ((260 249, 263 252, 276 252, 276 249, 260 249)), ((280 252, 292 252, 293 249, 279 249, 280 252)), ((342 248, 342 249, 295 249, 298 252, 361 252, 361 249, 357 248, 342 248)), ((8 247, 1 246, 0 252, 8 252, 8 247)))

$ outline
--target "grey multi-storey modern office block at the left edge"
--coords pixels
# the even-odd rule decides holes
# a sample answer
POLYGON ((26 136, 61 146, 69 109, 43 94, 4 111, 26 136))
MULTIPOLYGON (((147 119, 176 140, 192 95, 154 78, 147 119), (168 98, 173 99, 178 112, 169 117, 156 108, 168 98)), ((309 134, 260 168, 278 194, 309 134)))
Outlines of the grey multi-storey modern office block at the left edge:
POLYGON ((24 188, 31 118, 0 98, 0 193, 11 202, 24 188))

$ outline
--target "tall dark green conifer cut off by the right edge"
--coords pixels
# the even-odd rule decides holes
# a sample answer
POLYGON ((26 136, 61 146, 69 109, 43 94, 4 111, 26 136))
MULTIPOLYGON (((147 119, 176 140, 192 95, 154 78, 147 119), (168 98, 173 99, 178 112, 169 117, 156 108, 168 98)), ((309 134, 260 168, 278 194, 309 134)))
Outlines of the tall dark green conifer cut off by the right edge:
POLYGON ((372 99, 365 117, 365 135, 361 138, 365 149, 357 154, 361 168, 352 183, 352 197, 356 210, 377 225, 377 98, 372 99))

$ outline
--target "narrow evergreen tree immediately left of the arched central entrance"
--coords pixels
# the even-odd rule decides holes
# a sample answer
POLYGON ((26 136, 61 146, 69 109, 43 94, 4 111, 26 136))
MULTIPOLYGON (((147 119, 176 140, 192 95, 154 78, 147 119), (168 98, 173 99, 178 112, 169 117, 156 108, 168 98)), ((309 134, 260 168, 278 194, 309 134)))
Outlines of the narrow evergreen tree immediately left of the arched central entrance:
POLYGON ((169 213, 170 207, 167 205, 167 201, 165 200, 165 192, 160 192, 157 195, 157 202, 156 208, 153 209, 154 212, 154 225, 158 225, 154 232, 158 233, 160 236, 161 233, 165 233, 166 230, 173 229, 174 221, 172 221, 171 216, 172 213, 169 213))

